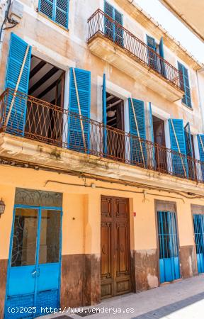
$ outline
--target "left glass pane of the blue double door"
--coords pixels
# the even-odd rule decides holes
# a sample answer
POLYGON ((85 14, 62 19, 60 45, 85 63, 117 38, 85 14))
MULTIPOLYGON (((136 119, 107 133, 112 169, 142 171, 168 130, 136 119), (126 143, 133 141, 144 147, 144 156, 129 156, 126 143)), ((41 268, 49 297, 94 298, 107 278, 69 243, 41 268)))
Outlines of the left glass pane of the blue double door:
POLYGON ((16 208, 11 267, 35 264, 38 209, 16 208))

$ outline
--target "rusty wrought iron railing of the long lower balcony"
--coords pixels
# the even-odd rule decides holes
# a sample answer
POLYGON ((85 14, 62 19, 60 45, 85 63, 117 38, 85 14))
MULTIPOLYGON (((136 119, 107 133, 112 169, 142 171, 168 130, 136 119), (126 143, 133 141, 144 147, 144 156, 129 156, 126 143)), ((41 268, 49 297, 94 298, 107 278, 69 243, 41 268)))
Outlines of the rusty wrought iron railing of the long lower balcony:
POLYGON ((204 162, 12 89, 0 96, 0 132, 204 182, 204 162))

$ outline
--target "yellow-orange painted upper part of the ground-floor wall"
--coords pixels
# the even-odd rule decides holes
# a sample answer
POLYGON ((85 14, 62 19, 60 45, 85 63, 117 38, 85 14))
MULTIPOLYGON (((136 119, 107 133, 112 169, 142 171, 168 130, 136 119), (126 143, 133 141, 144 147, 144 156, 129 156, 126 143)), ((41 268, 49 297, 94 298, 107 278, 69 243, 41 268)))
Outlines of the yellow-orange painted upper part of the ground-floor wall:
POLYGON ((62 254, 100 254, 101 195, 130 198, 132 250, 148 250, 157 247, 154 199, 176 202, 181 246, 193 245, 191 203, 204 205, 203 199, 190 201, 174 193, 151 190, 148 190, 148 194, 144 196, 143 193, 130 192, 142 192, 142 189, 89 179, 86 180, 86 186, 47 183, 47 180, 52 179, 63 183, 84 185, 84 180, 65 174, 26 168, 0 166, 0 177, 0 197, 6 203, 6 211, 0 218, 0 259, 8 258, 15 187, 63 193, 62 254), (5 181, 4 184, 2 181, 5 181), (95 189, 87 187, 93 182, 96 184, 95 189), (136 217, 133 217, 133 212, 136 213, 136 217))

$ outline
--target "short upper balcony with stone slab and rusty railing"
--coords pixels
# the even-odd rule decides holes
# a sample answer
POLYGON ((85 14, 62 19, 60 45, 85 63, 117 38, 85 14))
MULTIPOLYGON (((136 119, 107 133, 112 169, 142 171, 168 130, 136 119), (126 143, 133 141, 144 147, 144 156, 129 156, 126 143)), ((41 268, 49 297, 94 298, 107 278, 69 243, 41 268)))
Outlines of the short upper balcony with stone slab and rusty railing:
POLYGON ((183 96, 183 76, 139 38, 98 9, 88 20, 91 52, 169 101, 183 96))

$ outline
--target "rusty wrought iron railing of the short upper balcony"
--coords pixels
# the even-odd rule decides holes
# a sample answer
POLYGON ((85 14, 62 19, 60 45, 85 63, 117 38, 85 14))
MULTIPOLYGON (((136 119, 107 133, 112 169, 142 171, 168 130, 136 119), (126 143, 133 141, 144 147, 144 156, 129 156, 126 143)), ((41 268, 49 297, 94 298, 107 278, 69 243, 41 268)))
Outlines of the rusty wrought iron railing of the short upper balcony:
POLYGON ((107 38, 123 49, 130 57, 137 60, 137 62, 152 69, 164 80, 184 91, 182 73, 106 13, 98 9, 89 18, 88 24, 88 43, 97 36, 107 38))

